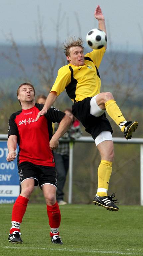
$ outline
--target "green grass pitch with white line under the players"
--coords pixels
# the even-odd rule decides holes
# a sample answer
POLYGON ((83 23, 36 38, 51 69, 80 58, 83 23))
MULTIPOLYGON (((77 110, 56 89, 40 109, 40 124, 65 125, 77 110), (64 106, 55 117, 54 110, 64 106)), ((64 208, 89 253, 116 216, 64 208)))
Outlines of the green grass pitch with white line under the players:
POLYGON ((30 204, 21 225, 23 244, 8 241, 13 205, 0 205, 1 256, 143 255, 143 207, 120 206, 118 212, 92 205, 61 206, 60 235, 54 245, 46 205, 30 204))

